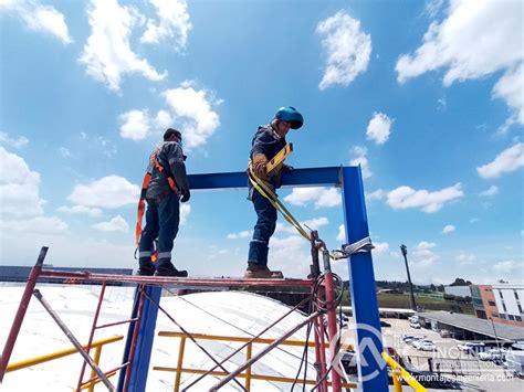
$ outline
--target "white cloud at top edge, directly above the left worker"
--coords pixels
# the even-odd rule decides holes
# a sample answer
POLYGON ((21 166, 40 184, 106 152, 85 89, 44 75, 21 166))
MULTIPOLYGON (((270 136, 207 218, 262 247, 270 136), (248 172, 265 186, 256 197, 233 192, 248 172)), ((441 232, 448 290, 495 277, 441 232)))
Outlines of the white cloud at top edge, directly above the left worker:
POLYGON ((158 44, 165 38, 175 39, 175 49, 185 49, 191 30, 186 0, 149 0, 155 6, 158 23, 147 20, 147 30, 140 38, 143 43, 158 44))

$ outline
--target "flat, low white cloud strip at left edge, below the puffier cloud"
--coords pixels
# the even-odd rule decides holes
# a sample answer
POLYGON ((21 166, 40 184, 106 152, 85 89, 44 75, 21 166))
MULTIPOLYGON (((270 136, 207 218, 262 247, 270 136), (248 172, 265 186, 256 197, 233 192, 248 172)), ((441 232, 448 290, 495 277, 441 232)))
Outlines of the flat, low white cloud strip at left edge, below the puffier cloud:
POLYGON ((34 216, 30 219, 0 220, 2 235, 7 232, 27 234, 60 235, 67 232, 67 224, 56 216, 34 216))

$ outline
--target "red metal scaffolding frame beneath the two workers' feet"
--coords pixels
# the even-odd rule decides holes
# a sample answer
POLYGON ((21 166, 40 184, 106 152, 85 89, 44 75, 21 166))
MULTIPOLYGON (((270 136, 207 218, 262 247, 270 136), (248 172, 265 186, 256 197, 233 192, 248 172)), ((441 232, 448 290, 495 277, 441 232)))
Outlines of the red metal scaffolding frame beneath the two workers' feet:
MULTIPOLYGON (((312 244, 314 241, 312 241, 312 244)), ((316 248, 318 251, 318 248, 316 248)), ((317 390, 321 392, 327 392, 328 391, 328 377, 331 377, 332 381, 332 390, 335 392, 339 392, 342 390, 342 380, 340 375, 336 372, 335 368, 333 367, 333 360, 336 358, 337 351, 338 351, 338 330, 337 330, 337 320, 336 320, 336 293, 335 293, 335 284, 334 284, 334 274, 331 272, 331 266, 329 266, 329 254, 327 251, 323 251, 324 255, 324 274, 319 275, 318 278, 306 278, 306 279, 243 279, 243 278, 197 278, 197 277, 186 277, 186 278, 177 278, 177 277, 147 277, 147 276, 130 276, 130 275, 112 275, 112 274, 97 274, 97 273, 90 273, 90 272, 62 272, 62 271, 54 271, 54 269, 44 269, 43 268, 43 261, 45 258, 48 252, 48 247, 42 247, 39 258, 36 261, 36 264, 34 267, 31 269, 30 276, 28 278, 28 283, 25 284, 25 289, 23 292, 19 309, 15 314, 15 317, 13 319, 8 339, 6 341, 2 356, 0 358, 0 382, 3 380, 3 377, 6 374, 6 370, 12 353, 12 350, 14 348, 14 343, 17 341, 17 338, 20 332, 20 328, 23 321, 23 318, 25 316, 25 311, 28 309, 29 303, 31 300, 31 297, 33 293, 35 292, 35 285, 41 277, 49 277, 49 278, 56 278, 56 279, 64 279, 64 282, 73 282, 73 283, 96 283, 102 285, 102 289, 99 293, 99 298, 98 303, 95 309, 94 318, 93 318, 93 324, 91 326, 91 331, 90 331, 90 339, 85 349, 85 356, 90 356, 90 351, 93 345, 93 339, 95 331, 99 328, 105 328, 105 327, 111 327, 111 326, 117 326, 122 324, 129 324, 133 325, 134 328, 130 328, 129 330, 133 331, 132 336, 128 337, 128 340, 130 341, 129 346, 129 352, 128 352, 128 360, 124 361, 124 363, 119 364, 118 367, 104 372, 104 375, 113 374, 118 370, 124 370, 125 369, 125 381, 123 384, 123 391, 127 391, 129 389, 129 382, 130 382, 130 373, 132 373, 132 368, 133 368, 133 359, 135 358, 135 349, 136 349, 136 343, 137 343, 137 338, 140 329, 140 319, 142 319, 142 312, 144 308, 144 304, 146 300, 151 300, 148 295, 146 294, 146 286, 154 285, 154 286, 165 286, 169 285, 171 288, 178 288, 178 289, 185 289, 185 288, 226 288, 226 287, 233 287, 233 288, 240 288, 240 287, 261 287, 261 286, 272 286, 272 287, 303 287, 303 288, 308 288, 312 293, 312 298, 313 292, 317 290, 315 298, 315 306, 312 307, 311 316, 313 314, 316 314, 316 316, 311 317, 311 320, 308 322, 313 324, 313 332, 314 332, 314 340, 315 340, 315 369, 317 370, 317 390), (98 322, 98 316, 99 311, 102 308, 103 299, 104 299, 104 294, 107 284, 109 283, 127 283, 127 284, 137 284, 138 289, 137 289, 137 296, 135 298, 135 306, 136 306, 136 315, 129 318, 125 319, 122 321, 116 321, 112 324, 105 324, 105 325, 97 325, 98 322), (325 338, 326 338, 326 329, 325 329, 325 324, 324 324, 324 315, 327 315, 327 336, 329 339, 329 361, 332 363, 328 363, 328 359, 326 358, 326 353, 324 350, 325 347, 325 338)), ((314 255, 313 255, 314 256, 314 255)), ((313 257, 313 264, 318 262, 318 257, 315 256, 313 257)), ((316 271, 318 271, 318 265, 316 266, 316 271)), ((315 268, 313 268, 315 271, 315 268)), ((155 304, 159 309, 161 307, 159 304, 155 304)), ((164 309, 161 309, 165 311, 164 309)), ((280 319, 275 322, 279 322, 280 319)), ((305 325, 304 325, 305 326, 305 325)), ((298 326, 297 326, 298 327, 298 326)), ((301 326, 302 328, 303 326, 301 326)), ((296 330, 298 330, 297 328, 296 330)), ((182 329, 184 330, 184 329, 182 329)), ((66 333, 67 335, 67 333, 66 333)), ((189 337, 190 333, 188 332, 189 337)), ((291 335, 291 333, 290 333, 291 335)), ((280 339, 275 340, 275 346, 279 341, 282 341, 286 338, 287 336, 283 336, 280 339)), ((262 356, 260 356, 261 358, 262 356)), ((90 357, 91 358, 91 357, 90 357)), ((259 358, 259 359, 260 359, 259 358)), ((93 383, 96 381, 99 381, 99 377, 91 377, 90 380, 83 381, 84 379, 84 373, 86 370, 86 365, 90 364, 92 365, 92 361, 84 360, 81 372, 80 372, 80 378, 78 378, 78 383, 77 383, 77 390, 81 390, 84 385, 88 383, 93 383)), ((229 380, 234 380, 234 375, 238 374, 241 371, 240 367, 235 371, 230 372, 230 374, 226 378, 227 381, 229 380)), ((95 370, 95 369, 93 369, 95 370)), ((99 372, 99 369, 96 369, 97 374, 99 372)), ((104 380, 107 381, 107 380, 104 380)), ((234 380, 235 381, 235 380, 234 380)), ((226 381, 223 383, 218 383, 218 388, 223 386, 226 384, 226 381)))

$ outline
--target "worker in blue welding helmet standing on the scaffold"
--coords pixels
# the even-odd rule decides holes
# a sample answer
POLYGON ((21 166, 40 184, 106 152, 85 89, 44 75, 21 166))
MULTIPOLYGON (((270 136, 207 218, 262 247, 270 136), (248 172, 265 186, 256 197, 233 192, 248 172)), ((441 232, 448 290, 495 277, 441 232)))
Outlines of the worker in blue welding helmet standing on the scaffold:
MULTIPOLYGON (((282 165, 281 168, 266 173, 268 162, 285 147, 285 136, 290 129, 298 129, 304 124, 302 115, 292 106, 281 107, 272 121, 260 126, 252 140, 250 153, 251 168, 274 191, 281 187, 282 171, 291 171, 293 168, 282 165)), ((271 271, 268 267, 268 252, 270 239, 276 227, 276 210, 271 202, 259 193, 249 183, 249 200, 253 202, 256 212, 256 224, 254 225, 253 239, 249 245, 248 269, 245 278, 283 278, 282 272, 271 271)))

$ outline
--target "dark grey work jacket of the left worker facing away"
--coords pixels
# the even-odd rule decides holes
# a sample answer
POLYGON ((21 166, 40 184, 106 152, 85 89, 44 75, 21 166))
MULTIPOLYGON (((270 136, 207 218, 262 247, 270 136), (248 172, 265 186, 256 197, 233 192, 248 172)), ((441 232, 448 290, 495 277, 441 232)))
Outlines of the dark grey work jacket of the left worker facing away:
POLYGON ((185 160, 186 156, 178 141, 164 141, 151 152, 147 167, 147 172, 151 174, 146 191, 147 200, 161 200, 170 192, 184 194, 189 190, 185 160), (156 167, 155 158, 164 170, 156 167), (175 180, 176 189, 171 190, 168 177, 175 180))

